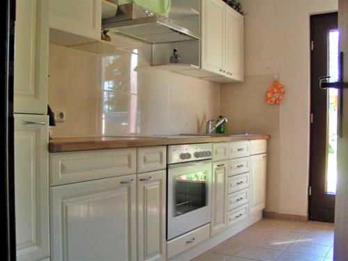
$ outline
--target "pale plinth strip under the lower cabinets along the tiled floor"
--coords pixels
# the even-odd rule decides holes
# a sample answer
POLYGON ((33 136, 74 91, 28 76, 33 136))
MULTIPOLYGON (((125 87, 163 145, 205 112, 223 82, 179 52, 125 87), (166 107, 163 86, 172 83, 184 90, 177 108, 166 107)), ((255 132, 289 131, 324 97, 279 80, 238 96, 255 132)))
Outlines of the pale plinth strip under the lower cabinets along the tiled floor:
POLYGON ((226 239, 248 228, 248 226, 253 225, 253 223, 258 222, 260 219, 262 219, 261 211, 251 214, 251 216, 248 216, 248 219, 240 221, 235 226, 228 228, 227 230, 219 233, 218 235, 210 237, 205 242, 200 243, 198 246, 195 246, 189 249, 188 251, 181 253, 180 255, 176 255, 175 257, 171 258, 171 261, 187 261, 196 258, 198 255, 203 254, 210 248, 213 248, 214 246, 224 242, 226 239))

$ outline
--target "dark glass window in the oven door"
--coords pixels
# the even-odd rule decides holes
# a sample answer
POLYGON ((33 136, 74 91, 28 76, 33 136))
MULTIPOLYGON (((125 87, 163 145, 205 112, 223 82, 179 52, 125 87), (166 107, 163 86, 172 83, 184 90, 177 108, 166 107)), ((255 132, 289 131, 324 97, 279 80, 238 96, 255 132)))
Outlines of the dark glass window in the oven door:
POLYGON ((207 205, 206 177, 205 171, 197 171, 174 177, 174 216, 180 216, 207 205))

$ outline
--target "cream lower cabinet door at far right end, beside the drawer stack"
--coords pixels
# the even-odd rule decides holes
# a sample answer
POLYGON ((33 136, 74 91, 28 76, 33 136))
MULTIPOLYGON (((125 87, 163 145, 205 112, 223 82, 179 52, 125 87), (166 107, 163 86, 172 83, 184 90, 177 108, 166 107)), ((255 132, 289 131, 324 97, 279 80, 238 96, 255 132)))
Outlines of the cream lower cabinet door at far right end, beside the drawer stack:
POLYGON ((250 213, 253 214, 266 207, 267 155, 251 156, 251 198, 250 213))

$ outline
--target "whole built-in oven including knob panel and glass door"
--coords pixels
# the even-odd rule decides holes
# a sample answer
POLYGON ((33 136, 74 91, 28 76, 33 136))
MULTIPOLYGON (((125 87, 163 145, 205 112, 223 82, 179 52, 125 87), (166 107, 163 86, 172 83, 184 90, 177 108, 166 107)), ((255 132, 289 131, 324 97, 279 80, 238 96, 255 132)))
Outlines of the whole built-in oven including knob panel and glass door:
POLYGON ((167 240, 211 221, 212 143, 168 146, 167 240))

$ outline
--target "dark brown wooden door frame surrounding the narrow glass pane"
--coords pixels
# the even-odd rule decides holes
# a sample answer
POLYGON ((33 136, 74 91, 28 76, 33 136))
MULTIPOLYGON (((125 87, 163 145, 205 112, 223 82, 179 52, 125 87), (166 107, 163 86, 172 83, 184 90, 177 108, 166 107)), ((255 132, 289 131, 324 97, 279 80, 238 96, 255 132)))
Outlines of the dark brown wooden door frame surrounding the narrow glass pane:
POLYGON ((334 219, 335 195, 326 193, 327 164, 329 156, 328 89, 319 88, 319 77, 328 72, 329 31, 338 28, 337 13, 310 17, 310 219, 331 221, 334 219))

